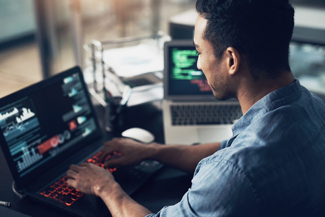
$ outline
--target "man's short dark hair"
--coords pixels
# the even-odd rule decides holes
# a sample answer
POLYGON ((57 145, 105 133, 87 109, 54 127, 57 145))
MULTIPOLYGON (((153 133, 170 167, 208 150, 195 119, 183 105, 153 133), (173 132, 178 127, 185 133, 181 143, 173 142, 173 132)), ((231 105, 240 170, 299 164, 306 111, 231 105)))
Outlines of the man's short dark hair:
POLYGON ((290 71, 289 43, 294 25, 290 0, 197 0, 207 20, 203 38, 220 58, 227 47, 247 57, 254 79, 290 71))

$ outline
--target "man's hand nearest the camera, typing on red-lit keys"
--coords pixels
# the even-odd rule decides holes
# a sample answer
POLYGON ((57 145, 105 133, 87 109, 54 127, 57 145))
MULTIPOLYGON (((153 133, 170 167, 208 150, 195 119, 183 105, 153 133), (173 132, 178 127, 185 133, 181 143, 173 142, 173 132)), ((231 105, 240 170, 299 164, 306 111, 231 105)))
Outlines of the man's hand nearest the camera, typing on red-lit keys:
POLYGON ((68 185, 79 189, 85 194, 99 196, 105 186, 117 184, 109 170, 93 163, 72 164, 67 171, 68 185))

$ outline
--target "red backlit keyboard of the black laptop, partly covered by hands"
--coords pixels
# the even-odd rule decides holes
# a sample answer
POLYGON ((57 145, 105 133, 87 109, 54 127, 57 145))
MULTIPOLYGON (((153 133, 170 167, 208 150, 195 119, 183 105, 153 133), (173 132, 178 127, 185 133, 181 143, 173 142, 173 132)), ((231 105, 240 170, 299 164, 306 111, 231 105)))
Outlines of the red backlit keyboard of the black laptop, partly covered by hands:
MULTIPOLYGON (((98 166, 104 168, 104 164, 98 162, 98 156, 101 154, 99 151, 97 154, 92 156, 91 158, 87 159, 86 162, 94 163, 98 166)), ((109 160, 112 158, 117 158, 121 156, 120 153, 113 152, 113 155, 109 155, 105 158, 105 160, 109 160)), ((114 172, 117 168, 105 168, 106 170, 110 170, 110 172, 114 172)), ((67 176, 63 176, 57 182, 51 184, 47 188, 43 189, 40 194, 48 197, 53 198, 67 206, 71 206, 74 201, 78 200, 80 197, 84 195, 80 190, 70 187, 67 184, 67 176)))

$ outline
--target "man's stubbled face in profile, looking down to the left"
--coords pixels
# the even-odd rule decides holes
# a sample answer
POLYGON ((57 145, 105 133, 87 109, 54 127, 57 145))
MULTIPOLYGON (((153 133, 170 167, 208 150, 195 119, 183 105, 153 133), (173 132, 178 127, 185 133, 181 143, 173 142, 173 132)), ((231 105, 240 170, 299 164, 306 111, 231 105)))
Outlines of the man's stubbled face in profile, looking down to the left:
POLYGON ((197 17, 194 30, 194 45, 199 54, 197 62, 198 69, 201 69, 212 88, 214 97, 217 100, 228 100, 234 97, 229 90, 229 74, 227 73, 224 58, 216 58, 211 42, 203 39, 207 20, 197 17))

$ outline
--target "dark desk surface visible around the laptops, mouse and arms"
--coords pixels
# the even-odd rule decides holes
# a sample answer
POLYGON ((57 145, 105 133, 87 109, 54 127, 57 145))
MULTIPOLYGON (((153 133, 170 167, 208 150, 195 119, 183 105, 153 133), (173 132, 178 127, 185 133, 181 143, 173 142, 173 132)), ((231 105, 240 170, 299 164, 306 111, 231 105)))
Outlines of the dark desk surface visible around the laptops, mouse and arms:
MULTIPOLYGON (((156 136, 157 142, 163 143, 162 115, 159 105, 158 102, 155 104, 127 108, 124 114, 124 128, 141 127, 148 129, 156 136)), ((96 111, 99 114, 98 119, 101 120, 100 114, 102 114, 103 111, 99 106, 96 106, 96 111)), ((109 138, 119 135, 119 133, 108 133, 109 138)), ((0 179, 0 200, 11 203, 11 207, 4 207, 5 209, 16 210, 33 217, 70 216, 62 211, 55 210, 39 202, 33 201, 28 197, 25 199, 19 199, 11 189, 13 179, 2 151, 0 151, 0 165, 0 174, 2 176, 0 179)), ((174 205, 181 200, 191 185, 191 178, 192 175, 188 175, 169 167, 164 167, 149 179, 145 185, 134 192, 131 197, 153 213, 157 213, 162 207, 174 205)), ((4 212, 1 212, 0 216, 2 216, 3 213, 4 212)))

